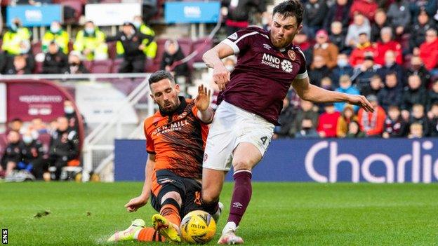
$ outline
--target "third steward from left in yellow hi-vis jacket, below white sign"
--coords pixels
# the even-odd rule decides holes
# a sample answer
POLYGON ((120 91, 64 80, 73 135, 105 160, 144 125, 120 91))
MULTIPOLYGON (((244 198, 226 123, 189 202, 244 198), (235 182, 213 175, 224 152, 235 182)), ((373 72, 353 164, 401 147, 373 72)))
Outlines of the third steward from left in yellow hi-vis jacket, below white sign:
POLYGON ((105 60, 108 58, 108 46, 105 43, 105 33, 100 31, 92 21, 85 23, 74 41, 74 50, 79 51, 86 60, 105 60))

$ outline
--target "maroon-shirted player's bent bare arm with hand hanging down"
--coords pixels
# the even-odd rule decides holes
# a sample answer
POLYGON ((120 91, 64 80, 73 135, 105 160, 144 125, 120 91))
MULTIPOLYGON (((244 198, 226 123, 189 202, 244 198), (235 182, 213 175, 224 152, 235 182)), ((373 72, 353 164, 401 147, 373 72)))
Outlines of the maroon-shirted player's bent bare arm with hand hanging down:
POLYGON ((213 81, 218 84, 219 90, 224 90, 228 81, 230 81, 230 71, 225 68, 221 61, 221 59, 230 55, 234 55, 234 50, 223 42, 202 55, 202 60, 204 60, 206 66, 214 69, 213 81))

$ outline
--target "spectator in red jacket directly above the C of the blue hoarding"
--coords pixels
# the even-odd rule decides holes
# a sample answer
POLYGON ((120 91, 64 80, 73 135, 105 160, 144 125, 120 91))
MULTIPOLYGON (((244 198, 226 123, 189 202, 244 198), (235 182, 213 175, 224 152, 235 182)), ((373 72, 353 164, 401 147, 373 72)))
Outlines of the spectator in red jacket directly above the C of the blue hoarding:
POLYGON ((319 137, 336 137, 336 129, 338 127, 338 118, 340 113, 335 110, 333 102, 328 102, 324 106, 325 112, 318 119, 318 134, 319 137))

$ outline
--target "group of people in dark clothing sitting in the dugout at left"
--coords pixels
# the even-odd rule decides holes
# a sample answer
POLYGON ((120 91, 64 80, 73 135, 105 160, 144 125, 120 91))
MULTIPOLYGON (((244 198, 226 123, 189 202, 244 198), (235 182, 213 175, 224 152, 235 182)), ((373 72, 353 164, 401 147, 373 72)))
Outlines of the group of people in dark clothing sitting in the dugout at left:
POLYGON ((64 116, 50 123, 41 118, 27 123, 15 118, 8 123, 7 131, 0 134, 0 142, 5 145, 0 179, 59 180, 62 168, 80 164, 79 121, 72 102, 64 102, 64 111, 64 116))

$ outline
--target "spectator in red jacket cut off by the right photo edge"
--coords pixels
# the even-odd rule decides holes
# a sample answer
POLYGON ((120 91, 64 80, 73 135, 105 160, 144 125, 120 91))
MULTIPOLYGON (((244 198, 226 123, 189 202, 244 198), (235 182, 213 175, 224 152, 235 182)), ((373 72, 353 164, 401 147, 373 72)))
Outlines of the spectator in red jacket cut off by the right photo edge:
MULTIPOLYGON (((415 55, 414 51, 414 55, 415 55)), ((426 41, 420 45, 420 57, 423 60, 427 70, 437 68, 438 63, 438 38, 436 29, 428 29, 426 32, 426 41)))

